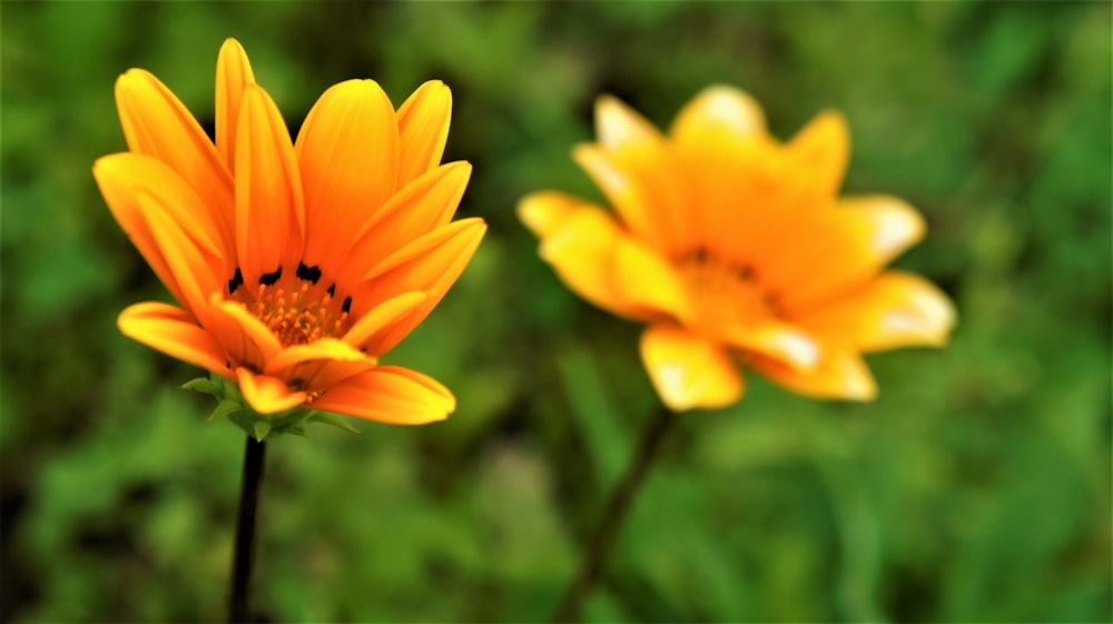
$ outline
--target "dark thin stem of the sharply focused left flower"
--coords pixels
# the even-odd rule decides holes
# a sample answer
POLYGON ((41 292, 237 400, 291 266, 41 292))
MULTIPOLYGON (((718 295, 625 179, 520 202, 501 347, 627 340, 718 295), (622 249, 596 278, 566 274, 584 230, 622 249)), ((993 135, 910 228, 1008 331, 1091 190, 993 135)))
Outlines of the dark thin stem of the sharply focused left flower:
POLYGON ((239 516, 236 521, 236 549, 232 564, 232 596, 228 601, 228 622, 249 622, 247 603, 252 582, 252 561, 255 557, 255 511, 263 483, 266 443, 247 436, 244 453, 244 481, 239 492, 239 516))

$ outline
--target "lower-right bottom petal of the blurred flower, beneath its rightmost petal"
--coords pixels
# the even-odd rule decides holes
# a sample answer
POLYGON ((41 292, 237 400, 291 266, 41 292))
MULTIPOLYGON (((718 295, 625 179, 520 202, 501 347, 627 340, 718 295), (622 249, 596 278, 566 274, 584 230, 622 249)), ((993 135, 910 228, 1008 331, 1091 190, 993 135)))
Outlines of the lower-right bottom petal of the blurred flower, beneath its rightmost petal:
POLYGON ((856 350, 829 341, 821 354, 810 370, 794 369, 760 356, 751 356, 750 365, 772 382, 810 397, 873 400, 877 396, 874 377, 856 350))

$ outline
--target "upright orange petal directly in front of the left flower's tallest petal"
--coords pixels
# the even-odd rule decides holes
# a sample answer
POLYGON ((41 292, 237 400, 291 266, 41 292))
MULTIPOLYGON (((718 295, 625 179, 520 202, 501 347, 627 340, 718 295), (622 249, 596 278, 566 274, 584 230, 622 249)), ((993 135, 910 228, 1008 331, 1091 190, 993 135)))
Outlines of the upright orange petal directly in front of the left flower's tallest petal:
POLYGON ((244 285, 302 257, 305 207, 286 123, 262 87, 244 90, 236 137, 236 250, 244 285))

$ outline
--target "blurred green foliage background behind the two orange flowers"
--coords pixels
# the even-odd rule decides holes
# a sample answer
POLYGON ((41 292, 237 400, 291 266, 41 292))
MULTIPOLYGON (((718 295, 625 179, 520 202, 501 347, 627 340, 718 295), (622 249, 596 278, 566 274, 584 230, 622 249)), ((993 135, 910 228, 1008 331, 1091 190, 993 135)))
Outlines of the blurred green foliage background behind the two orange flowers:
POLYGON ((845 189, 907 198, 896 265, 956 301, 943 350, 870 356, 873 404, 751 378, 684 416, 585 617, 1109 622, 1111 9, 1100 3, 2 6, 4 622, 219 621, 243 434, 198 372, 118 334, 165 289, 90 175, 112 85, 160 77, 207 128, 238 38, 292 131, 329 85, 447 82, 461 215, 490 234, 388 357, 460 399, 418 428, 269 445, 254 602, 270 622, 550 616, 657 399, 639 328, 565 290, 524 194, 599 197, 570 158, 597 95, 666 126, 713 82, 789 137, 849 119, 845 189))

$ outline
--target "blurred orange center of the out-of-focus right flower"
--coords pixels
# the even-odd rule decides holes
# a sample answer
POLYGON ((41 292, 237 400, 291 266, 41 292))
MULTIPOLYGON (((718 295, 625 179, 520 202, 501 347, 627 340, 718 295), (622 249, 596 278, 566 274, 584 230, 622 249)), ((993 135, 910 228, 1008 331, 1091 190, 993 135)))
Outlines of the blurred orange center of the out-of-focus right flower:
POLYGON ((697 323, 709 331, 785 317, 777 295, 760 284, 749 263, 697 247, 679 254, 674 265, 695 303, 697 323))

